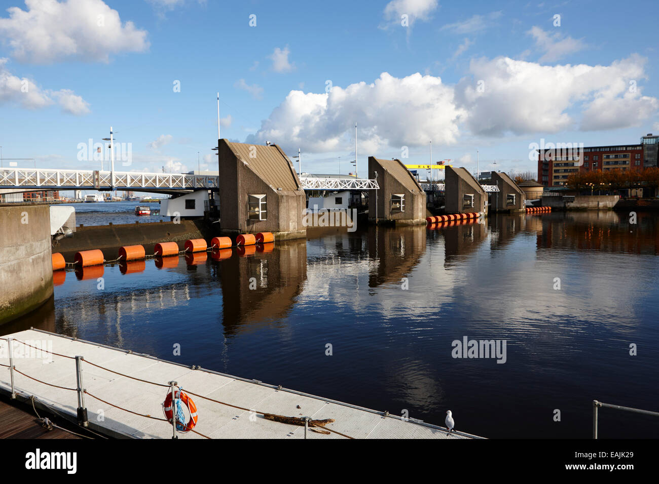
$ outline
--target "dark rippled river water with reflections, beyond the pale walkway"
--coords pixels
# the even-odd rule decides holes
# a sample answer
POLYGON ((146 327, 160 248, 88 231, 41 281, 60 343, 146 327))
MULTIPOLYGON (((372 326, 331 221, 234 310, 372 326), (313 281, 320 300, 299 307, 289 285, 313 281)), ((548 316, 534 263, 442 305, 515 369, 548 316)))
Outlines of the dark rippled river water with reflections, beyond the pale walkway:
MULTIPOLYGON (((433 423, 450 409, 456 428, 486 437, 587 438, 593 399, 658 410, 658 217, 638 217, 370 227, 105 267, 102 290, 96 273, 67 273, 54 306, 11 331, 39 326, 433 423), (452 358, 463 336, 507 340, 507 361, 452 358)), ((600 435, 659 437, 659 421, 605 410, 600 435)))

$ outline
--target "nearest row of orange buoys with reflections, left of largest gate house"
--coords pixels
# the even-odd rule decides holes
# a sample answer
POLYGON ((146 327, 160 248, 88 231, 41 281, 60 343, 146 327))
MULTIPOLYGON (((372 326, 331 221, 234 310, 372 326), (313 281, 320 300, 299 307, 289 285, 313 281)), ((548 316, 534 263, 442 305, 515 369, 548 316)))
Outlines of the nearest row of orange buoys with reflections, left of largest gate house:
POLYGON ((171 269, 179 265, 179 255, 185 255, 187 265, 200 265, 206 263, 208 255, 214 261, 223 261, 231 258, 233 248, 239 257, 254 255, 256 252, 269 253, 274 250, 275 237, 272 232, 258 232, 258 234, 240 234, 236 238, 236 244, 229 237, 214 237, 207 246, 206 240, 196 238, 186 240, 183 250, 179 251, 176 242, 159 242, 154 246, 154 253, 146 255, 144 246, 123 246, 119 248, 117 259, 107 260, 103 252, 98 249, 82 250, 76 252, 72 263, 67 263, 64 256, 55 252, 51 256, 53 265, 53 284, 63 284, 66 277, 67 264, 75 267, 78 281, 86 279, 98 279, 103 276, 105 263, 119 263, 122 274, 140 273, 146 269, 146 259, 154 258, 158 269, 171 269))

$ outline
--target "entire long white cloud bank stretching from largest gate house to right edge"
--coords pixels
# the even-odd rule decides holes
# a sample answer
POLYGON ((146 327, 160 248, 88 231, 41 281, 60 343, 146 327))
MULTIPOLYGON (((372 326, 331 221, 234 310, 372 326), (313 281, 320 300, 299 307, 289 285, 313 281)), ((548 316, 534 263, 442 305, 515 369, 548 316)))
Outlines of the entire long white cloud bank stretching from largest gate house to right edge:
POLYGON ((455 144, 461 135, 505 136, 635 126, 656 115, 659 101, 641 94, 646 59, 611 65, 556 65, 509 57, 474 59, 469 76, 444 84, 418 72, 387 72, 329 93, 291 90, 246 142, 270 140, 285 150, 360 150, 455 144), (634 80, 631 89, 630 81, 634 80))

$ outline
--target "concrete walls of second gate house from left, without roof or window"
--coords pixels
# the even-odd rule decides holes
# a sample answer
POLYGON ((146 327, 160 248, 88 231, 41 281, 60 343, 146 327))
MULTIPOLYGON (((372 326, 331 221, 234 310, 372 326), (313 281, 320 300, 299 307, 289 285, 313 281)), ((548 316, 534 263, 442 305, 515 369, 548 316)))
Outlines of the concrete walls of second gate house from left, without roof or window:
POLYGON ((371 190, 368 195, 368 219, 374 221, 393 221, 396 225, 415 225, 426 223, 426 194, 413 193, 395 176, 387 171, 375 157, 368 157, 368 178, 374 179, 378 172, 379 190, 371 190), (405 195, 405 209, 391 212, 391 195, 405 195), (377 203, 377 209, 376 209, 377 203))

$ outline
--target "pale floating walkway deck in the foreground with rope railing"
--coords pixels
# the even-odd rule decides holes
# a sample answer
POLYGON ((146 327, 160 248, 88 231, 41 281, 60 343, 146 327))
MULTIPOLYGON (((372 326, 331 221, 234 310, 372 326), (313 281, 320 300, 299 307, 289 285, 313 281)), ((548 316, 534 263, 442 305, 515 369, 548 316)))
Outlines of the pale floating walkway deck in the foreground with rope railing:
MULTIPOLYGON (((28 330, 3 336, 0 340, 0 392, 11 394, 9 351, 7 338, 13 340, 14 389, 16 398, 29 401, 36 397, 38 406, 56 410, 61 416, 76 421, 78 392, 74 356, 83 356, 82 381, 90 429, 112 437, 136 439, 171 439, 172 426, 164 419, 162 402, 175 380, 192 396, 198 408, 198 423, 194 430, 201 435, 179 433, 179 438, 214 439, 300 439, 304 427, 265 419, 257 412, 288 417, 335 419, 326 429, 357 439, 470 439, 465 433, 448 433, 442 427, 386 416, 343 402, 283 389, 258 381, 224 375, 206 369, 190 369, 148 355, 134 354, 92 342, 74 340, 46 331, 28 330), (26 346, 47 350, 40 352, 26 346), (60 356, 53 355, 59 354, 60 356), (105 369, 92 365, 100 365, 105 369), (112 373, 112 370, 117 373, 112 373), (20 373, 19 373, 20 371, 20 373), (27 376, 34 379, 30 379, 27 376), (129 377, 163 385, 144 383, 129 377), (50 385, 46 385, 49 383, 50 385), (53 387, 51 385, 57 385, 53 387), (92 396, 93 395, 93 396, 92 396), (226 404, 200 398, 204 396, 226 404), (105 400, 106 403, 98 400, 105 400), (115 408, 109 404, 114 404, 115 408), (298 408, 299 407, 299 408, 298 408), (138 416, 127 412, 137 412, 138 416), (202 437, 203 435, 203 437, 202 437)), ((311 439, 345 439, 338 433, 329 435, 308 431, 311 439)))

